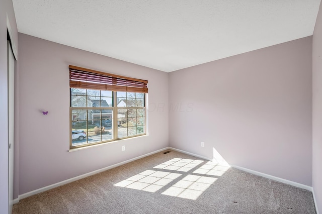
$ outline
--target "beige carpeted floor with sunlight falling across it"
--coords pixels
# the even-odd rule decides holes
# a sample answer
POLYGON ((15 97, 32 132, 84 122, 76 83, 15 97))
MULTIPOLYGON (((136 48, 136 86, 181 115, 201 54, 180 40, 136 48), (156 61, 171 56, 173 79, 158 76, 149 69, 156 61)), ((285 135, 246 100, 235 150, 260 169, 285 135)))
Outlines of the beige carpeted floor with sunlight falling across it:
POLYGON ((20 200, 13 213, 316 213, 312 193, 176 151, 20 200))

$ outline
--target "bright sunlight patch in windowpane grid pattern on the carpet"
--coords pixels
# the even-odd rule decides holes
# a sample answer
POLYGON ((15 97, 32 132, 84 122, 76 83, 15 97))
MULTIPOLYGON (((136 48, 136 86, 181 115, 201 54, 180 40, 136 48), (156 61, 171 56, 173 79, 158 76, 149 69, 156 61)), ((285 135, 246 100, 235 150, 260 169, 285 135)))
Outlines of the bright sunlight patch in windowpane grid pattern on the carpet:
POLYGON ((173 158, 153 167, 153 170, 145 170, 114 184, 114 186, 147 192, 160 190, 163 195, 196 200, 217 180, 217 177, 213 176, 221 176, 228 169, 227 166, 218 166, 218 162, 208 161, 201 165, 204 162, 203 160, 173 158), (195 169, 193 173, 205 176, 190 173, 187 175, 192 169, 195 169), (185 175, 177 172, 185 173, 185 175), (162 191, 161 189, 164 187, 167 189, 162 191))

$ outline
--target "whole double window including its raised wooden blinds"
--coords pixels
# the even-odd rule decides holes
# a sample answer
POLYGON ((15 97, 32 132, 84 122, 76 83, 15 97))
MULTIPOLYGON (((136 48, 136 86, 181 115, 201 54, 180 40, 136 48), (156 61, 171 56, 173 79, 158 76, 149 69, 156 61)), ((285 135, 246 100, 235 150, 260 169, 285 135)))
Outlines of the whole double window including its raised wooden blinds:
POLYGON ((146 134, 147 81, 69 66, 70 148, 146 134))

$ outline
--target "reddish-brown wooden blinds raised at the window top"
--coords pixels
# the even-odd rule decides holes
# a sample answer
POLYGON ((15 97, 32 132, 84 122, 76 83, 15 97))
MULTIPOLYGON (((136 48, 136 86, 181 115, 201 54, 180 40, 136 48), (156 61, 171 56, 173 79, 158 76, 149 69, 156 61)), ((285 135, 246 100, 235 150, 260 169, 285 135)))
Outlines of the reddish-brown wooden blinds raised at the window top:
POLYGON ((69 65, 69 86, 95 90, 147 93, 147 80, 69 65))

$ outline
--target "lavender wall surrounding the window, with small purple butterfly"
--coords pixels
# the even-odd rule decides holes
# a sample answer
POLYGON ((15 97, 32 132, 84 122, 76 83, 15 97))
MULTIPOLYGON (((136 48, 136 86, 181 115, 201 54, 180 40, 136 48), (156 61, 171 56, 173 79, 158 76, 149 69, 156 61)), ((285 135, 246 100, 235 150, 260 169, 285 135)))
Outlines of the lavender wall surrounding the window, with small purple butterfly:
POLYGON ((19 194, 168 146, 168 111, 151 108, 148 136, 68 152, 69 64, 148 80, 149 106, 168 105, 168 73, 25 34, 19 44, 19 194))

